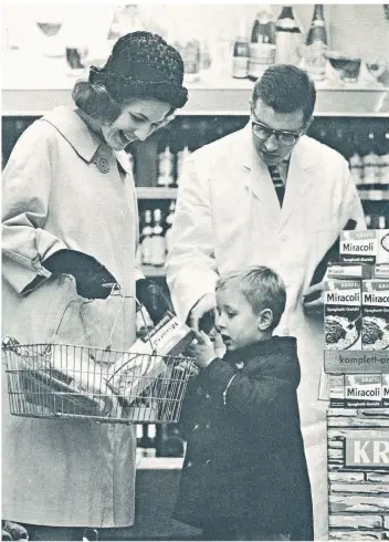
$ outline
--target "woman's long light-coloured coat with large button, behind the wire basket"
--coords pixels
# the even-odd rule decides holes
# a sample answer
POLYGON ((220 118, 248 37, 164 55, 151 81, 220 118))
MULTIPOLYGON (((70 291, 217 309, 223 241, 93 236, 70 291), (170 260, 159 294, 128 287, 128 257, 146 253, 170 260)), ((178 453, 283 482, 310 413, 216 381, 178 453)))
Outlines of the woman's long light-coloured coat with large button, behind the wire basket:
MULTIPOLYGON (((95 257, 123 292, 134 296, 138 216, 126 158, 125 153, 115 155, 69 107, 54 110, 21 136, 3 171, 3 335, 22 343, 52 338, 64 306, 78 298, 70 275, 42 274, 40 262, 62 248, 95 257), (40 285, 22 294, 33 280, 40 285)), ((104 321, 105 302, 93 303, 91 322, 94 311, 97 323, 102 312, 104 321)), ((129 299, 113 348, 134 343, 134 315, 129 299)), ((82 329, 78 321, 73 323, 82 329)), ((2 517, 56 527, 132 525, 134 426, 10 416, 4 385, 6 378, 2 517)))

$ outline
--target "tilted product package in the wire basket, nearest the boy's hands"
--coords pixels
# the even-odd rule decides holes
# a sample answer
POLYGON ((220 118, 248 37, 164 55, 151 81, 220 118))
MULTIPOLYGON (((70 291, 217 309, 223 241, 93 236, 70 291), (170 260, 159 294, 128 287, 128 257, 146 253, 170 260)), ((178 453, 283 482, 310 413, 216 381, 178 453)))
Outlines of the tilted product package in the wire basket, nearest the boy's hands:
POLYGON ((171 387, 171 366, 195 338, 192 330, 167 312, 162 320, 138 338, 108 369, 107 384, 127 405, 137 399, 161 397, 171 387), (174 357, 169 357, 174 356, 174 357), (156 388, 158 387, 158 393, 156 388))

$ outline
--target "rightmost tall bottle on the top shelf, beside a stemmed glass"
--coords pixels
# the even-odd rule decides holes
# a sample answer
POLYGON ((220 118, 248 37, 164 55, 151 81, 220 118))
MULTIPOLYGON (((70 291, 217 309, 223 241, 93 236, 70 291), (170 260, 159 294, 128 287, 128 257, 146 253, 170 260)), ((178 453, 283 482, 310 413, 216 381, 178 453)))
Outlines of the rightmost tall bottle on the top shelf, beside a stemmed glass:
POLYGON ((326 73, 328 45, 323 4, 315 4, 314 15, 306 37, 304 56, 306 71, 313 81, 323 81, 326 73))

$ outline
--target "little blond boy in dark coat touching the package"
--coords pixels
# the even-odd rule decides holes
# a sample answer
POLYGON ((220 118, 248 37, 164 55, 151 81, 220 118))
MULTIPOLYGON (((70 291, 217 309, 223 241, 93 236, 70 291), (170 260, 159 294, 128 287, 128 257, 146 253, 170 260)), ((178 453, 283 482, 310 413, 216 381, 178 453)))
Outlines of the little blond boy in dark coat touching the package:
POLYGON ((285 285, 265 267, 220 279, 217 357, 203 333, 190 346, 199 375, 183 405, 188 439, 175 519, 206 540, 313 540, 299 428, 294 337, 273 336, 285 285))

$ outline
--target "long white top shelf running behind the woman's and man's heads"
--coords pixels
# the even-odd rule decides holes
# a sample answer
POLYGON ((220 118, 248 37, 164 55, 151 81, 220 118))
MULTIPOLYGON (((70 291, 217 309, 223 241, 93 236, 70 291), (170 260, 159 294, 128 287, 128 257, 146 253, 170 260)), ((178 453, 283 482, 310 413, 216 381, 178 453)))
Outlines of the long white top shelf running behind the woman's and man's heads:
MULTIPOLYGON (((81 77, 85 73, 71 73, 63 58, 8 52, 2 56, 2 115, 40 116, 57 105, 72 105, 72 88, 81 77), (15 70, 15 65, 25 70, 15 70)), ((245 115, 253 83, 210 74, 207 81, 190 84, 188 88, 189 101, 179 115, 245 115)), ((316 116, 389 117, 389 87, 320 84, 316 116)))

